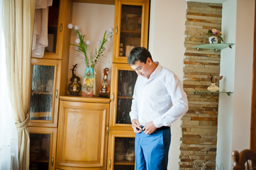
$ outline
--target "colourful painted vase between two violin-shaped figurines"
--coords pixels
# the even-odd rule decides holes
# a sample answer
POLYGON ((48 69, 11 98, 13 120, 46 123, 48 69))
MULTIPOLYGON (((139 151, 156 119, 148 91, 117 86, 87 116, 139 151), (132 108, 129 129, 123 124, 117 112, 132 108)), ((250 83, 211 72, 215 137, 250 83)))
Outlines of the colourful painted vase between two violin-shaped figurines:
POLYGON ((94 68, 87 67, 84 71, 84 79, 82 82, 82 96, 93 97, 94 96, 94 68))

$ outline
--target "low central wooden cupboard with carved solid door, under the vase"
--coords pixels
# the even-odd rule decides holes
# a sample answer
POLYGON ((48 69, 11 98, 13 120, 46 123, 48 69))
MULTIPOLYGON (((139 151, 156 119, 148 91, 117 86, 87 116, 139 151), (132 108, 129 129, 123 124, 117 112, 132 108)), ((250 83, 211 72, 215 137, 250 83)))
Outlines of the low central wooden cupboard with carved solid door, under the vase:
POLYGON ((56 167, 105 169, 109 99, 60 99, 56 167))

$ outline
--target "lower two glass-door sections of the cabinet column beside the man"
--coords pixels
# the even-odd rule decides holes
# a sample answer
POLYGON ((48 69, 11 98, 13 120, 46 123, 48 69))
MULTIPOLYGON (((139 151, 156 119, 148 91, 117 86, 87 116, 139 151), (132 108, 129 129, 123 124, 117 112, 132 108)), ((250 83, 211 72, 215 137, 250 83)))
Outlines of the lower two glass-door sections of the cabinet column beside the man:
POLYGON ((108 136, 108 167, 135 169, 134 137, 130 123, 130 106, 137 74, 128 64, 112 64, 111 114, 108 136))

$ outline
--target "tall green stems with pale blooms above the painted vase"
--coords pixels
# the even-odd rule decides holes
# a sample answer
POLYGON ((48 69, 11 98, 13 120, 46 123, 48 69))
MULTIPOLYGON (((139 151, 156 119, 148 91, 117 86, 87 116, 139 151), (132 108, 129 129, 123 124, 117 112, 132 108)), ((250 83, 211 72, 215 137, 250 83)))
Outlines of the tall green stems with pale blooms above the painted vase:
POLYGON ((95 48, 95 51, 91 55, 87 55, 87 47, 90 44, 90 41, 84 40, 85 35, 82 35, 79 32, 79 30, 78 30, 79 27, 78 26, 73 27, 72 23, 69 23, 68 28, 74 30, 74 33, 76 33, 77 37, 78 37, 77 40, 75 41, 77 44, 70 44, 70 45, 76 46, 76 50, 78 52, 82 52, 84 54, 84 58, 85 58, 87 67, 94 68, 95 64, 98 62, 100 57, 104 55, 104 51, 106 50, 106 48, 105 48, 106 43, 108 41, 110 41, 111 38, 113 37, 113 35, 112 35, 113 28, 109 28, 108 33, 107 33, 107 31, 105 31, 102 40, 97 41, 98 47, 95 48))

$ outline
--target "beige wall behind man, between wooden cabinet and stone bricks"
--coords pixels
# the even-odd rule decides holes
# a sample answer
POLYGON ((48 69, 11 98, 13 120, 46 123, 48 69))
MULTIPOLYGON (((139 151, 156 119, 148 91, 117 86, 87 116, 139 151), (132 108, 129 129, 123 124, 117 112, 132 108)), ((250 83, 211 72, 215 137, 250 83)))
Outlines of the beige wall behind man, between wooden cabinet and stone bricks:
MULTIPOLYGON (((183 75, 186 9, 184 0, 152 0, 150 6, 149 50, 153 60, 175 72, 180 80, 183 75)), ((179 167, 180 124, 181 121, 177 120, 172 125, 169 170, 179 167)))

